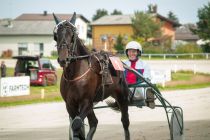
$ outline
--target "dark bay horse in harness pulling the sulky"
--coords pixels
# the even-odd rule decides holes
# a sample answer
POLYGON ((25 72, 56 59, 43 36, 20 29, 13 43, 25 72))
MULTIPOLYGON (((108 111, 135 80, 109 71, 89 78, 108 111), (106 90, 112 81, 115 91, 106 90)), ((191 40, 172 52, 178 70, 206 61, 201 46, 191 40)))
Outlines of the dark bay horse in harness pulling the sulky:
MULTIPOLYGON (((128 116, 128 88, 122 71, 112 72, 112 84, 103 85, 103 65, 99 52, 90 52, 79 39, 75 27, 76 13, 70 20, 61 21, 54 15, 56 27, 54 39, 57 42, 58 63, 63 68, 60 92, 69 114, 73 140, 85 140, 84 119, 88 118, 89 132, 86 139, 92 140, 98 120, 93 106, 109 96, 115 98, 121 111, 125 140, 130 140, 128 116)), ((109 64, 110 65, 110 64, 109 64)), ((104 113, 106 115, 106 113, 104 113)), ((71 136, 70 136, 70 139, 71 136)))

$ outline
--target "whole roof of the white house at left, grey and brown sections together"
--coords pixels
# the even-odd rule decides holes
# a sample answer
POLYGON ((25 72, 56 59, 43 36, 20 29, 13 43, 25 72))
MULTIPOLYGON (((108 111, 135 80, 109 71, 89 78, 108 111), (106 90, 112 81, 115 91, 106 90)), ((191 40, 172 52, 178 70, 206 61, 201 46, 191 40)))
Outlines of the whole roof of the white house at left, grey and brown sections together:
MULTIPOLYGON (((56 14, 60 19, 71 19, 72 14, 56 14)), ((89 21, 77 15, 84 22, 89 21)), ((52 14, 22 14, 14 20, 0 20, 0 35, 53 35, 55 21, 52 14)))

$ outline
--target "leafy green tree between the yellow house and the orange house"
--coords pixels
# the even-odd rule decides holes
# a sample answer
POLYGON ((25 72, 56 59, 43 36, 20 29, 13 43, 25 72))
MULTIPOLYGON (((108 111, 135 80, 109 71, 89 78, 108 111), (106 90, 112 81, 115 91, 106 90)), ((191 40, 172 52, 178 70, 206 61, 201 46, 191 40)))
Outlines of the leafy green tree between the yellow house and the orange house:
POLYGON ((161 36, 161 23, 155 22, 149 13, 135 12, 132 20, 133 38, 143 38, 146 42, 149 38, 161 36))

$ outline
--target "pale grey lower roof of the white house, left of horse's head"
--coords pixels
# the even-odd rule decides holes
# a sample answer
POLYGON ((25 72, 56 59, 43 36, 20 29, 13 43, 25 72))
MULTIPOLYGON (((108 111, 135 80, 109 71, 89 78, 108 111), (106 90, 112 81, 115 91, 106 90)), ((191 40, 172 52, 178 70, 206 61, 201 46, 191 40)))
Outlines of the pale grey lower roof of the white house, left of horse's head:
POLYGON ((0 35, 52 35, 54 21, 1 21, 0 35))

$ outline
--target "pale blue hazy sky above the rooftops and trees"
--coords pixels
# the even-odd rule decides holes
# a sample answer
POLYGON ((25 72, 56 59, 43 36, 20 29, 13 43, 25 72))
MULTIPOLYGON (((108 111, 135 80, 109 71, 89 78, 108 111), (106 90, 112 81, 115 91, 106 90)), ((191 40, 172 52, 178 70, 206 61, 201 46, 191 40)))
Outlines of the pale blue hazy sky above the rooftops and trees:
POLYGON ((97 9, 110 14, 114 9, 123 14, 146 11, 149 4, 157 4, 158 13, 167 17, 172 11, 181 24, 196 23, 197 12, 210 0, 0 0, 0 19, 16 18, 23 13, 72 14, 74 11, 92 20, 97 9))

